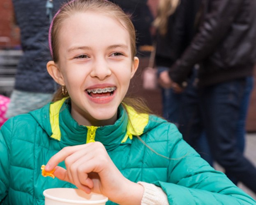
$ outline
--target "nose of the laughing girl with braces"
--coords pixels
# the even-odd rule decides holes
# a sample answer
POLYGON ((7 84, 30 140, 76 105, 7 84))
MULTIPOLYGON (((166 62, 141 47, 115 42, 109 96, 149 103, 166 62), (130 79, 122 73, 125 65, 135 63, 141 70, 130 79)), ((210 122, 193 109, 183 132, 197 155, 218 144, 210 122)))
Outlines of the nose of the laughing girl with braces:
POLYGON ((111 69, 104 57, 98 57, 92 64, 91 77, 97 77, 99 80, 104 80, 111 75, 111 69))

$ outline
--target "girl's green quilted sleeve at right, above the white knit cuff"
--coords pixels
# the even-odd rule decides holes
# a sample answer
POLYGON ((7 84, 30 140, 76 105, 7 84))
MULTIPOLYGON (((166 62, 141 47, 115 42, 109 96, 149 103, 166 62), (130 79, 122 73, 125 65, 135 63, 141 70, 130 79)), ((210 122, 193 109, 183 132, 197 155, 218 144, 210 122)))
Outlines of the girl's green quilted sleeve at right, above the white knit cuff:
POLYGON ((167 194, 170 204, 256 204, 224 173, 214 170, 171 125, 168 132, 168 182, 155 182, 167 194))

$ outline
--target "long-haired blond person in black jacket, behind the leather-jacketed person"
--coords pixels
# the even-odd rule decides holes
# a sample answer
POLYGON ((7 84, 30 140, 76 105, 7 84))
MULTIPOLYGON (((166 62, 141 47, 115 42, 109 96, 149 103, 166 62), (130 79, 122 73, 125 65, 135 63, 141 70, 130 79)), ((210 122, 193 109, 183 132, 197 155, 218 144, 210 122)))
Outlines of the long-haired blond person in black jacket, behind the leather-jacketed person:
MULTIPOLYGON (((165 80, 163 71, 168 71, 171 65, 182 55, 185 48, 198 30, 199 16, 201 15, 201 0, 160 0, 157 9, 157 16, 154 21, 156 28, 156 57, 155 62, 158 68, 160 82, 165 80)), ((194 67, 194 66, 192 66, 194 67)), ((196 66, 197 67, 197 66, 196 66)), ((189 112, 198 114, 198 96, 194 87, 194 80, 197 78, 197 68, 192 68, 188 76, 188 86, 183 93, 177 93, 172 88, 161 87, 162 97, 162 116, 168 121, 175 123, 183 135, 187 135, 184 128, 187 123, 198 125, 201 121, 200 116, 189 118, 184 111, 186 98, 189 100, 189 112), (184 119, 186 118, 186 119, 184 119)), ((187 110, 187 109, 185 109, 187 110)), ((189 116, 190 117, 190 116, 189 116)), ((197 127, 196 127, 197 128, 197 127)), ((207 139, 202 129, 190 130, 197 140, 193 146, 210 165, 213 166, 213 160, 210 155, 207 139)))

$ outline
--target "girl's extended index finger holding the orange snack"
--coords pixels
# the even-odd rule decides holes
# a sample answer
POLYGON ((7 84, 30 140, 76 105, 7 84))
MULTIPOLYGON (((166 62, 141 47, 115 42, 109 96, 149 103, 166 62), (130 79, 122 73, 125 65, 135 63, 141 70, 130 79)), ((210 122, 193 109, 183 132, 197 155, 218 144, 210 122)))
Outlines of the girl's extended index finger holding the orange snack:
POLYGON ((52 171, 60 162, 64 161, 69 155, 72 155, 78 150, 84 149, 86 146, 90 146, 90 144, 91 143, 63 148, 49 159, 44 168, 45 171, 52 171))

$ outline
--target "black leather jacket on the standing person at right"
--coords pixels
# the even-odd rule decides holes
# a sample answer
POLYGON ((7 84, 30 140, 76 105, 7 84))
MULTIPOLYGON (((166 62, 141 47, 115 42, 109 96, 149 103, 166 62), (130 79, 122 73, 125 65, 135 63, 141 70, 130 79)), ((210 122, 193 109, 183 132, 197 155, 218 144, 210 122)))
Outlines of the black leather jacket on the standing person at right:
POLYGON ((200 61, 201 86, 252 75, 256 62, 256 2, 204 0, 203 4, 200 32, 172 67, 171 79, 182 85, 191 65, 200 61))

